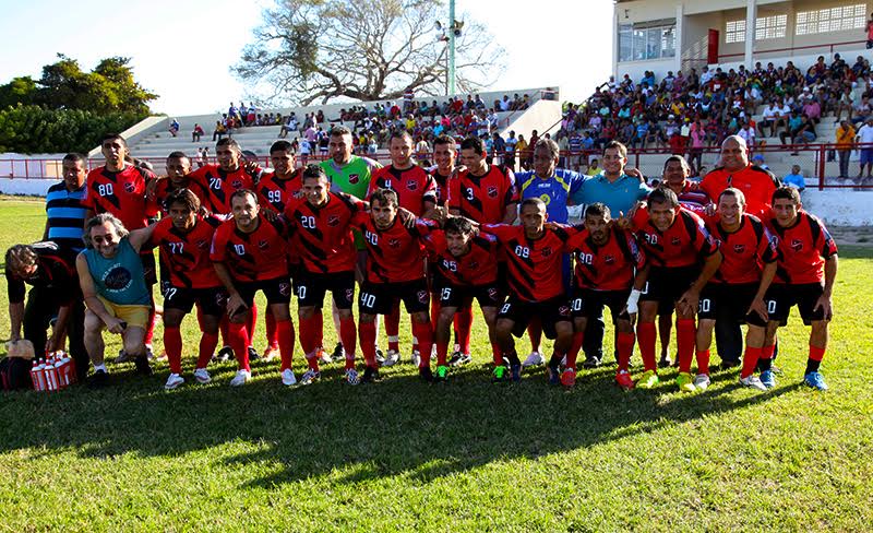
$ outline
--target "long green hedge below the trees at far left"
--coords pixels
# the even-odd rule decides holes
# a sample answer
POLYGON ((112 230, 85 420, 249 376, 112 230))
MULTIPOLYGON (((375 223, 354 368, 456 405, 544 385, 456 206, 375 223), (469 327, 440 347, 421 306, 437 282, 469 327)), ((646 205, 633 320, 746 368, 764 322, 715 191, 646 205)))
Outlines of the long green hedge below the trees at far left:
POLYGON ((143 114, 81 109, 46 109, 19 105, 0 111, 0 152, 86 153, 109 131, 123 131, 145 118, 143 114))

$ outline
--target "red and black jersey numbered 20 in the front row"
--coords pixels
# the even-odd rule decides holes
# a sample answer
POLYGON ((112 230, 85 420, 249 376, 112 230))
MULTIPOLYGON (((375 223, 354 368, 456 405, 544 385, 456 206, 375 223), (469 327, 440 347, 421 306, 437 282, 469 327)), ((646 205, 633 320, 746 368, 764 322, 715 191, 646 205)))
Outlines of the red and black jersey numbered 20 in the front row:
POLYGON ((351 217, 363 211, 363 202, 343 192, 328 192, 327 203, 315 208, 304 199, 294 199, 285 208, 294 234, 300 242, 300 258, 307 272, 328 274, 355 270, 357 251, 351 235, 351 217))

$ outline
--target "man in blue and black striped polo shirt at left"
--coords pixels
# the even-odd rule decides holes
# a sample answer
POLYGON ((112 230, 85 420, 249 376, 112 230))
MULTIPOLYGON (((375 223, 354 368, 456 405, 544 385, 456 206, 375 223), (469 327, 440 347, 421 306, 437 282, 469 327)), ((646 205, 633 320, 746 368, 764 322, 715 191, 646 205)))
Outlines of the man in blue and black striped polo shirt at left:
POLYGON ((43 240, 57 244, 64 256, 74 259, 85 248, 82 228, 85 226, 87 208, 83 204, 86 194, 87 165, 82 154, 67 154, 61 163, 63 181, 48 189, 46 194, 46 229, 43 240))

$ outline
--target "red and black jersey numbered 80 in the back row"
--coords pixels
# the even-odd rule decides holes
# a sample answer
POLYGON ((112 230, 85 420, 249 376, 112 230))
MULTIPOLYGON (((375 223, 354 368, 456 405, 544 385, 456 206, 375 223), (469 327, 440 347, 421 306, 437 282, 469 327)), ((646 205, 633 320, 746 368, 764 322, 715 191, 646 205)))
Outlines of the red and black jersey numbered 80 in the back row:
POLYGON ((105 166, 88 173, 85 208, 96 214, 109 213, 130 230, 148 225, 148 218, 157 215, 157 202, 145 194, 145 185, 157 177, 144 168, 124 165, 121 171, 112 173, 105 166))

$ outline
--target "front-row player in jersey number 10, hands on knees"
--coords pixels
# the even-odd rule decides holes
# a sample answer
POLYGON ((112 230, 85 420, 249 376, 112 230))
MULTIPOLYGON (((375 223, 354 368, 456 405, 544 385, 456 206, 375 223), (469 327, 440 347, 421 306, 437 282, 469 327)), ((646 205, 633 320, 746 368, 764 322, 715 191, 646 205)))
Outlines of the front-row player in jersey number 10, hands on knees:
POLYGON ((250 323, 258 291, 264 293, 268 312, 276 318, 282 382, 296 384, 297 378, 291 370, 294 323, 289 308, 291 284, 285 221, 271 222, 262 215, 258 196, 249 189, 240 189, 230 196, 230 209, 234 217, 218 226, 210 251, 218 280, 228 293, 229 341, 239 366, 230 386, 242 386, 251 378, 248 350, 251 332, 247 324, 250 323))

